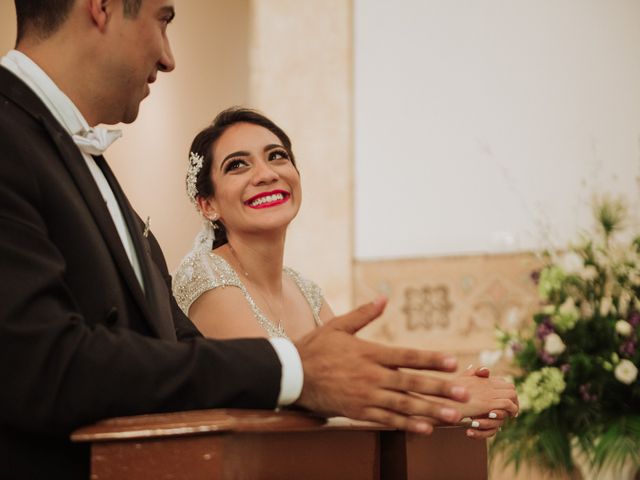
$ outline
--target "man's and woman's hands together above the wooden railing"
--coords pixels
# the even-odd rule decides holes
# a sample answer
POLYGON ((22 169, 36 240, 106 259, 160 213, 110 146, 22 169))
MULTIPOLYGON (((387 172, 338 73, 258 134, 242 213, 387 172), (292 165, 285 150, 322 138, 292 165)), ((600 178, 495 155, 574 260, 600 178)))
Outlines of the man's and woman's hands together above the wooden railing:
POLYGON ((457 360, 356 338, 385 306, 384 298, 362 305, 296 342, 304 370, 297 406, 423 434, 436 424, 472 417, 468 435, 474 438, 495 434, 508 415, 517 415, 515 388, 489 378, 487 369, 450 378, 428 376, 421 371, 455 371, 457 360))

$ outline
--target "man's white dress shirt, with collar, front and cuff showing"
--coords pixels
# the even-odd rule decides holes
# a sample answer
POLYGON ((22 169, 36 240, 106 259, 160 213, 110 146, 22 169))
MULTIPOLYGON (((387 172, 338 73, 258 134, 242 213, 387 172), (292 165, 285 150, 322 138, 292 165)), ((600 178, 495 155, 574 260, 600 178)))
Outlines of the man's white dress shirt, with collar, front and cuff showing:
MULTIPOLYGON (((96 138, 97 143, 102 143, 102 145, 98 145, 99 151, 96 150, 92 153, 101 153, 104 148, 121 135, 119 131, 106 131, 106 129, 101 129, 101 127, 92 128, 71 99, 57 87, 53 80, 35 62, 22 52, 11 50, 0 59, 0 65, 14 73, 35 92, 71 137, 83 137, 86 133, 93 134, 93 131, 96 131, 97 135, 94 135, 93 138, 96 138)), ((76 144, 81 145, 79 148, 82 156, 85 162, 87 162, 89 171, 93 175, 98 189, 107 204, 107 208, 116 226, 120 240, 122 240, 122 245, 129 257, 131 266, 140 285, 144 289, 144 280, 142 278, 138 255, 113 191, 93 157, 89 153, 86 153, 92 149, 84 148, 84 143, 86 142, 83 139, 74 138, 74 140, 76 140, 76 144)), ((274 338, 271 339, 270 342, 282 365, 278 405, 289 405, 298 399, 302 391, 304 374, 300 355, 293 343, 286 339, 274 338)))

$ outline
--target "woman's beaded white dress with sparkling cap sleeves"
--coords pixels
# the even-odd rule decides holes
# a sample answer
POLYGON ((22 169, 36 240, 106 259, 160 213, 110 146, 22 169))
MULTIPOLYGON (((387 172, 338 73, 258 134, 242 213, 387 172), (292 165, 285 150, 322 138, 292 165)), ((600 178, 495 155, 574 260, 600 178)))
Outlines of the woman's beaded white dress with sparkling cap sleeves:
MULTIPOLYGON (((246 286, 240 281, 235 270, 224 258, 213 253, 210 245, 208 235, 203 232, 198 234, 194 248, 184 257, 173 277, 173 295, 184 314, 189 314, 191 304, 204 292, 214 288, 236 287, 244 295, 256 321, 264 328, 267 335, 287 338, 282 326, 267 318, 249 294, 246 286)), ((320 307, 323 298, 320 287, 311 280, 303 278, 292 268, 284 267, 283 272, 295 282, 309 303, 316 325, 321 325, 320 307)))

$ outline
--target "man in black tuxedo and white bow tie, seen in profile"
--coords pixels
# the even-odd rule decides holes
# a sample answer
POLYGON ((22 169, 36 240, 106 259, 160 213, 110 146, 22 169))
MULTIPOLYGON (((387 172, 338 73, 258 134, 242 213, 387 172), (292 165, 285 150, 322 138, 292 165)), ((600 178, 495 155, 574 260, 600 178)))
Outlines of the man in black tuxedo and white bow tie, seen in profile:
POLYGON ((399 369, 452 371, 453 358, 353 336, 381 300, 296 345, 202 338, 102 156, 117 135, 93 128, 133 122, 174 69, 174 1, 15 4, 0 62, 1 478, 87 478, 69 434, 113 416, 295 404, 421 433, 459 420, 464 388, 399 369))

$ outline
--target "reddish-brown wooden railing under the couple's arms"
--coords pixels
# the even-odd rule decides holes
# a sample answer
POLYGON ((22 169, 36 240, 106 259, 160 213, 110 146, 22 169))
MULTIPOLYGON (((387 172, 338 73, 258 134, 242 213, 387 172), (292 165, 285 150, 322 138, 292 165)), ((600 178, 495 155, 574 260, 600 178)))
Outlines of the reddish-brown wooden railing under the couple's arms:
POLYGON ((201 410, 106 420, 91 443, 92 480, 485 479, 484 441, 462 427, 430 436, 298 412, 201 410))

